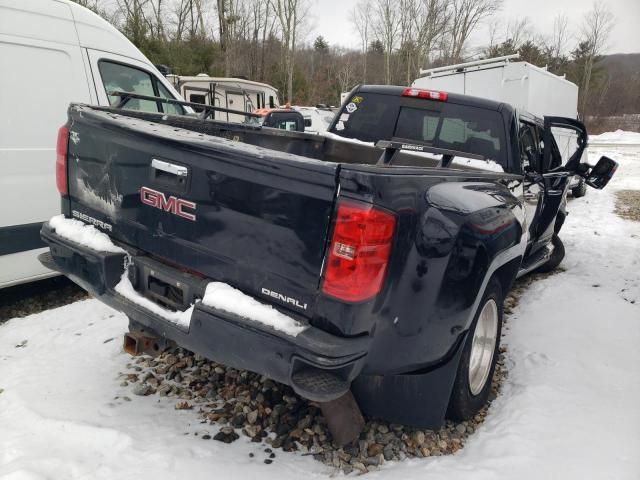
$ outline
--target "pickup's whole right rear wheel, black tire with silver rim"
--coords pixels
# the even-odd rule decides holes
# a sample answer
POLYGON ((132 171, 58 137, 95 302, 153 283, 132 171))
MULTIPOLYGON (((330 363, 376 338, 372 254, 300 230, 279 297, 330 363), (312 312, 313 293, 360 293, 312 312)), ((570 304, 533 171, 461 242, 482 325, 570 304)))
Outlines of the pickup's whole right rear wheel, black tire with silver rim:
POLYGON ((502 303, 502 286, 492 278, 460 356, 447 409, 447 417, 451 420, 469 420, 487 403, 500 349, 502 303))

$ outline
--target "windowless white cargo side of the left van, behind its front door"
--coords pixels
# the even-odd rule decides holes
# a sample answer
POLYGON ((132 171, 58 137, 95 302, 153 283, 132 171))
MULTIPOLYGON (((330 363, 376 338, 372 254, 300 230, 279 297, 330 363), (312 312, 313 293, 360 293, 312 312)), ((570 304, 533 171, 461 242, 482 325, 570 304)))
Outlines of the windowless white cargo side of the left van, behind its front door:
POLYGON ((0 1, 0 288, 53 275, 37 255, 60 211, 56 131, 70 102, 90 101, 69 6, 0 1))

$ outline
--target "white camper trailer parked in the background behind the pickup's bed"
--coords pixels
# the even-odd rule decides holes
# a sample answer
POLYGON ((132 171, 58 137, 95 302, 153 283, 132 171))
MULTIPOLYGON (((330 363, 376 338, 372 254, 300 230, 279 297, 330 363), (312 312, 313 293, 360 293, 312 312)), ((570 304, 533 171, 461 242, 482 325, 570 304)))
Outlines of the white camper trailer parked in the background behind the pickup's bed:
MULTIPOLYGON (((187 102, 241 112, 276 108, 280 105, 276 88, 245 78, 210 77, 200 73, 195 76, 167 75, 167 79, 187 102)), ((194 107, 194 110, 198 108, 194 107)), ((213 112, 211 118, 242 123, 247 117, 229 112, 213 112)))

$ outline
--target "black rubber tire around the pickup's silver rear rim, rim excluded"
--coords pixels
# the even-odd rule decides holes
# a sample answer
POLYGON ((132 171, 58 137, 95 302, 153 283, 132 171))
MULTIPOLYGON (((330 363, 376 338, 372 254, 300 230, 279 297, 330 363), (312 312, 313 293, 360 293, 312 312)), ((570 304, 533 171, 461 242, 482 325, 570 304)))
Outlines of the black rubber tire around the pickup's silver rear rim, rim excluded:
POLYGON ((489 393, 491 392, 491 381, 493 379, 493 373, 498 363, 498 352, 500 350, 500 335, 502 333, 502 303, 503 293, 500 282, 492 278, 487 285, 487 289, 484 292, 478 311, 476 312, 469 333, 465 340, 462 355, 460 356, 460 363, 458 364, 458 371, 456 373, 456 379, 453 384, 453 390, 451 397, 449 398, 449 406, 447 408, 447 417, 454 421, 464 421, 472 418, 478 411, 485 406, 489 393), (482 312, 484 306, 493 300, 497 306, 498 324, 497 324, 497 336, 496 344, 493 350, 493 356, 491 359, 491 368, 489 370, 489 376, 485 380, 484 386, 477 393, 473 394, 469 383, 469 367, 471 360, 471 346, 473 344, 473 334, 478 325, 478 317, 482 312))

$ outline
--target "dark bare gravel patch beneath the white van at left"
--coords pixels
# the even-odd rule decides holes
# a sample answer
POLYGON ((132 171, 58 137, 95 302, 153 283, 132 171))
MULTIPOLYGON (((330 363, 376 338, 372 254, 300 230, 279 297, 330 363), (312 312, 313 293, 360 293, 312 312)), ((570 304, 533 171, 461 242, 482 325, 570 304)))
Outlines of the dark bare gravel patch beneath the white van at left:
POLYGON ((84 300, 87 292, 66 277, 54 277, 0 289, 0 324, 50 308, 84 300))

